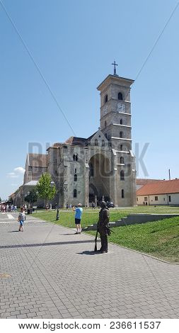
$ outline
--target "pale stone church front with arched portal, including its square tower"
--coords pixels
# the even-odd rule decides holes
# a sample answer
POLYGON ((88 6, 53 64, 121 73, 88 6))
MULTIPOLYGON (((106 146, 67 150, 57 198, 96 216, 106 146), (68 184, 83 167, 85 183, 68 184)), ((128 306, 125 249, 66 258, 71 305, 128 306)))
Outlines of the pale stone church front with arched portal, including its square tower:
POLYGON ((60 207, 112 201, 136 205, 136 168, 132 152, 130 86, 134 81, 108 75, 100 91, 100 128, 91 137, 69 137, 47 149, 48 171, 60 207))

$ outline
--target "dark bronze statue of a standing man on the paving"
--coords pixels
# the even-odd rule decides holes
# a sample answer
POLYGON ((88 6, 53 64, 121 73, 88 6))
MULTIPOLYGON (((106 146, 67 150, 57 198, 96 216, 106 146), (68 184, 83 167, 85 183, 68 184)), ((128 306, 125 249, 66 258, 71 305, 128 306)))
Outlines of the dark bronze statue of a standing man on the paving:
POLYGON ((110 234, 110 225, 109 225, 109 210, 106 207, 105 201, 101 201, 100 203, 100 213, 99 213, 99 220, 98 220, 98 231, 100 233, 100 241, 101 241, 101 253, 108 252, 108 235, 110 234))

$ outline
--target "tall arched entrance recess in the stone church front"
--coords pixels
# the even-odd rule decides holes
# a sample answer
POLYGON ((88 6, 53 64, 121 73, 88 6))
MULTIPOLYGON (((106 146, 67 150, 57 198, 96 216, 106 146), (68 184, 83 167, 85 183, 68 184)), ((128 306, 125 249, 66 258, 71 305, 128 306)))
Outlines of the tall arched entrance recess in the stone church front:
POLYGON ((103 154, 96 154, 89 161, 89 202, 97 198, 110 201, 110 161, 103 154))

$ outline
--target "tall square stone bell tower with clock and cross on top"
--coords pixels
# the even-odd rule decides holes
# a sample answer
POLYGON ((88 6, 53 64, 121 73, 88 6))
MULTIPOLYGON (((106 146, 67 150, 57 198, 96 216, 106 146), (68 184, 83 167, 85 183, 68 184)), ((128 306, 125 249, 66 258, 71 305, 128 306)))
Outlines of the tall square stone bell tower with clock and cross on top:
POLYGON ((136 205, 136 168, 132 152, 130 87, 134 80, 108 75, 100 91, 100 130, 112 149, 113 200, 117 205, 136 205))

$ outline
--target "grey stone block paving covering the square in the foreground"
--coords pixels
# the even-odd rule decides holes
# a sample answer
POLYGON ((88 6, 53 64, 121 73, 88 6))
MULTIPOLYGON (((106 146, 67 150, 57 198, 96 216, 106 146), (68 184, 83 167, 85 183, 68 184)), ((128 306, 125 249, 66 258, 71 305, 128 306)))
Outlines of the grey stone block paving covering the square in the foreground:
POLYGON ((179 317, 178 265, 113 244, 95 254, 91 236, 32 216, 18 232, 11 215, 0 214, 2 318, 179 317))

